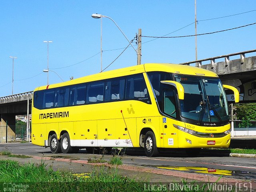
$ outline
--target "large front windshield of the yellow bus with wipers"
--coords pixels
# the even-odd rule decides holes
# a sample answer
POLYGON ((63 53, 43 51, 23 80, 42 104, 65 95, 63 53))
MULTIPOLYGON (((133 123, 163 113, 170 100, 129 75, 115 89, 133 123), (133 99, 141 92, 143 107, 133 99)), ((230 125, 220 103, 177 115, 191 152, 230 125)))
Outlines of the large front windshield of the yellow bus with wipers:
POLYGON ((200 78, 175 75, 175 80, 184 87, 184 100, 180 100, 183 118, 201 122, 227 122, 228 102, 218 78, 200 78))

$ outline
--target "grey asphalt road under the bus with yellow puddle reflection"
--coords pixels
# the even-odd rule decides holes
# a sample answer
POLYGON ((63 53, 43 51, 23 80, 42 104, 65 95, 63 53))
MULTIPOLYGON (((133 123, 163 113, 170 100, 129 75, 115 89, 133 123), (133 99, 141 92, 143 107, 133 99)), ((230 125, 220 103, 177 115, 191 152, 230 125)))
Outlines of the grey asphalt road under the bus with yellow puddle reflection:
MULTIPOLYGON (((0 151, 10 151, 13 154, 25 154, 33 156, 70 156, 87 160, 88 158, 100 158, 101 155, 88 154, 85 149, 78 154, 52 154, 50 148, 43 148, 31 143, 7 143, 0 144, 0 151)), ((112 150, 113 151, 113 150, 112 150)), ((126 149, 122 157, 123 164, 151 167, 163 170, 179 170, 182 172, 196 172, 209 175, 223 175, 227 178, 236 178, 256 182, 256 159, 235 158, 218 154, 201 154, 199 157, 190 158, 182 151, 164 151, 156 158, 148 158, 140 149, 126 149)), ((104 155, 109 160, 112 155, 104 155)))

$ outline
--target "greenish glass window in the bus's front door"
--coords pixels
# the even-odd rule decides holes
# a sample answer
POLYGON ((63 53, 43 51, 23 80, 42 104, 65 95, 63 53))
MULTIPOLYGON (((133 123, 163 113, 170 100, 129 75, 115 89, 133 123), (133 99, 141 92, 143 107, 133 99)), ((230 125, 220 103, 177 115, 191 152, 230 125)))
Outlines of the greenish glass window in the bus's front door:
POLYGON ((164 89, 164 113, 176 118, 176 102, 174 90, 164 89))

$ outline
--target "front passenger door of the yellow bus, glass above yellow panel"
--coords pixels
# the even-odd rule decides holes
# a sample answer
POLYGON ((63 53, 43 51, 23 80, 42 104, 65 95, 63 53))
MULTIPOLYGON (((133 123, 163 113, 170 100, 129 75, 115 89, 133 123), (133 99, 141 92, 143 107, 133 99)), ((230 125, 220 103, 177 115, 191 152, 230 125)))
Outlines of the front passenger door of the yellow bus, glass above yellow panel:
POLYGON ((162 111, 163 126, 161 137, 164 139, 164 148, 178 148, 178 132, 173 124, 177 124, 177 106, 175 100, 175 92, 172 88, 163 89, 162 111))

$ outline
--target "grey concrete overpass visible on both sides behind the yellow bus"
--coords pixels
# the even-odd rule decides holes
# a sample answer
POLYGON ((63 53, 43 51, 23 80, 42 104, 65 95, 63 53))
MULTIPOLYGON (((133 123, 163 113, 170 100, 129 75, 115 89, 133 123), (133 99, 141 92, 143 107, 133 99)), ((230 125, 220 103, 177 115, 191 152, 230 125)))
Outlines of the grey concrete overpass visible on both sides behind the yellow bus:
MULTIPOLYGON (((238 88, 240 102, 256 102, 256 56, 246 58, 245 54, 256 52, 249 50, 234 54, 222 55, 203 60, 186 62, 182 64, 196 64, 200 68, 211 70, 218 74, 223 84, 238 88), (238 56, 239 59, 230 60, 229 57, 238 56), (223 62, 215 62, 216 59, 223 59, 223 62), (202 64, 210 62, 210 64, 202 64)), ((234 95, 229 90, 226 92, 228 100, 234 101, 234 95)), ((31 114, 33 92, 26 92, 0 98, 0 142, 7 142, 15 138, 15 116, 31 114), (7 134, 6 134, 7 130, 7 134), (6 137, 6 135, 8 135, 6 137)), ((29 125, 29 124, 28 124, 29 125)), ((30 128, 27 130, 30 133, 30 128)), ((28 136, 29 139, 30 136, 28 136)))

